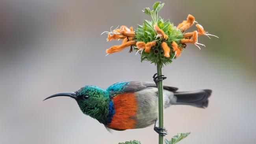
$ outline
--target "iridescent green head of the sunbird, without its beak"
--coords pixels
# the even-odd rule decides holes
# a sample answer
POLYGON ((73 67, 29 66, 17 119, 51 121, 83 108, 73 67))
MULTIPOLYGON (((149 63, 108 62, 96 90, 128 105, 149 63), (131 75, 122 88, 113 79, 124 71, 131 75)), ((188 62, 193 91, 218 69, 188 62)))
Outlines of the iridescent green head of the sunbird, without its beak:
POLYGON ((104 123, 109 114, 109 94, 106 90, 96 86, 85 86, 76 91, 76 96, 76 101, 84 114, 104 123))

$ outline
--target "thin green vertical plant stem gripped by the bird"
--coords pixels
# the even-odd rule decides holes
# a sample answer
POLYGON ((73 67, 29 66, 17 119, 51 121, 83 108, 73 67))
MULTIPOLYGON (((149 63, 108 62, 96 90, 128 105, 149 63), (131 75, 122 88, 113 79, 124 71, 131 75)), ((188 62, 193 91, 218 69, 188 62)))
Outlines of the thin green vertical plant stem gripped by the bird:
MULTIPOLYGON (((157 75, 162 75, 162 65, 161 63, 156 64, 157 75)), ((159 127, 163 127, 163 83, 162 79, 158 81, 158 122, 159 127)), ((163 144, 163 136, 159 135, 159 144, 163 144)))

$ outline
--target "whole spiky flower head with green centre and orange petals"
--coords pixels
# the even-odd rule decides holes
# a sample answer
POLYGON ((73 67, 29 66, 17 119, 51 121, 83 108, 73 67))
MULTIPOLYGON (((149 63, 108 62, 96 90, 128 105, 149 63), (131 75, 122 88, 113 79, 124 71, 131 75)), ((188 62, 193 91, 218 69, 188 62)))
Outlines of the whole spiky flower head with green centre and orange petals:
MULTIPOLYGON (((132 27, 121 26, 115 30, 110 30, 107 41, 113 39, 123 39, 121 45, 115 45, 106 50, 107 54, 119 52, 126 47, 131 47, 136 50, 136 54, 141 54, 141 61, 147 60, 155 64, 168 64, 176 57, 181 55, 182 50, 186 48, 186 44, 195 44, 204 46, 198 43, 199 35, 214 36, 204 30, 200 24, 196 24, 197 31, 185 33, 188 28, 197 23, 193 15, 188 15, 187 20, 178 24, 175 27, 169 20, 163 20, 158 17, 158 12, 163 7, 164 3, 156 2, 151 11, 148 7, 143 10, 144 13, 151 17, 151 21, 144 20, 143 25, 138 25, 137 30, 132 27)), ((209 37, 210 38, 210 37, 209 37)), ((130 52, 131 52, 130 50, 130 52)))

